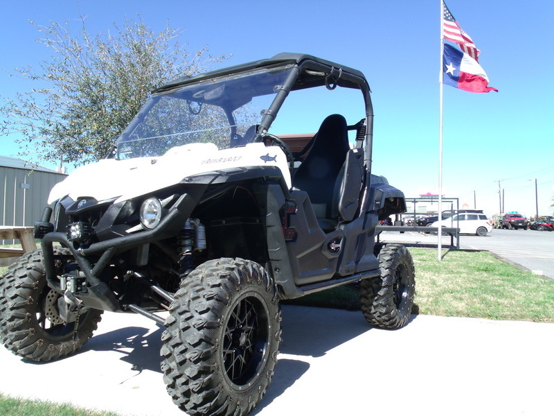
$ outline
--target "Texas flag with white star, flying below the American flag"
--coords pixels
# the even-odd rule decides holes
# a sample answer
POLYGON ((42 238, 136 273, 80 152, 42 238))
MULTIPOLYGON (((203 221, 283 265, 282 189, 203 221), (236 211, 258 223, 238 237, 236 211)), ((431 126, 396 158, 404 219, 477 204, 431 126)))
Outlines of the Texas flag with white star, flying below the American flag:
POLYGON ((479 62, 454 46, 443 46, 443 83, 468 92, 498 92, 488 86, 489 78, 479 62))

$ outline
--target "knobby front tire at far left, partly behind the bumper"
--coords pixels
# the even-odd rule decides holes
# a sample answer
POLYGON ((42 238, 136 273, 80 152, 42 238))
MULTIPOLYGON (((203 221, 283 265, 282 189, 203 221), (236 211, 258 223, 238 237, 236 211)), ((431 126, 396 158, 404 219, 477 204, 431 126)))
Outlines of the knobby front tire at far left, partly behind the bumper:
MULTIPOLYGON (((54 254, 69 250, 54 248, 54 254)), ((63 262, 57 261, 57 270, 63 262)), ((42 250, 28 252, 0 281, 0 340, 11 352, 31 361, 53 361, 80 349, 98 327, 102 311, 87 309, 75 322, 64 322, 57 309, 60 295, 46 285, 42 250)))

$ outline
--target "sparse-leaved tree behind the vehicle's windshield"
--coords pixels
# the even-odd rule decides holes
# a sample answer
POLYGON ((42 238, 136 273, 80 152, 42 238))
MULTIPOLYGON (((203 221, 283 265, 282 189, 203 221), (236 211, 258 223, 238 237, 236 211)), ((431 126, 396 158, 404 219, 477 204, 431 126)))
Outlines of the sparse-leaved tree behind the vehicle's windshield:
POLYGON ((94 36, 84 17, 75 37, 67 22, 30 23, 53 56, 39 71, 15 69, 37 88, 5 98, 0 133, 19 132, 21 154, 38 150, 39 159, 49 162, 79 165, 104 157, 152 89, 228 58, 209 55, 206 47, 189 53, 177 42, 182 28, 166 25, 154 33, 141 17, 126 17, 123 28, 113 25, 113 34, 94 36))

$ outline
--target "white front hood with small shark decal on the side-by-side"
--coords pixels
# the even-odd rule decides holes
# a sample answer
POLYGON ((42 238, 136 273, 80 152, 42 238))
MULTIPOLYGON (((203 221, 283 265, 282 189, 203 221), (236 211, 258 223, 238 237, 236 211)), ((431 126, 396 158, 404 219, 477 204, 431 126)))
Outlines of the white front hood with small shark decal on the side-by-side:
POLYGON ((116 202, 121 202, 170 187, 185 177, 199 173, 271 165, 280 168, 290 187, 287 159, 277 146, 252 143, 218 150, 215 144, 187 144, 172 148, 161 157, 103 159, 75 169, 63 182, 53 187, 48 204, 64 196, 73 200, 95 198, 97 201, 117 198, 116 202))

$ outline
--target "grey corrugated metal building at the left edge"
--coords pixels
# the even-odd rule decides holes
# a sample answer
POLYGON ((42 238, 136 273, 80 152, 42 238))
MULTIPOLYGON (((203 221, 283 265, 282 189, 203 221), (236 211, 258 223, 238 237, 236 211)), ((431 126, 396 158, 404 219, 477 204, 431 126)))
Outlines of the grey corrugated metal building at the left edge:
POLYGON ((32 227, 42 216, 50 190, 65 177, 22 159, 0 156, 0 225, 32 227))

